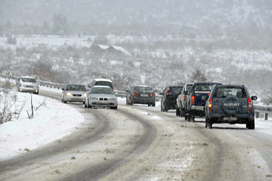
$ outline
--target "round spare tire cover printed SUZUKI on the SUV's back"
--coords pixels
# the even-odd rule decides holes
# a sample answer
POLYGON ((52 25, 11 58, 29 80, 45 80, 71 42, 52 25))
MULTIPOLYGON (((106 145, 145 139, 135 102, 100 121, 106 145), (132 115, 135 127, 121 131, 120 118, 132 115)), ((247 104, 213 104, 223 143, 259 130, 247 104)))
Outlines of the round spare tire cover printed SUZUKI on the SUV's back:
POLYGON ((241 101, 236 96, 227 96, 222 101, 222 108, 227 114, 237 114, 241 110, 241 101))

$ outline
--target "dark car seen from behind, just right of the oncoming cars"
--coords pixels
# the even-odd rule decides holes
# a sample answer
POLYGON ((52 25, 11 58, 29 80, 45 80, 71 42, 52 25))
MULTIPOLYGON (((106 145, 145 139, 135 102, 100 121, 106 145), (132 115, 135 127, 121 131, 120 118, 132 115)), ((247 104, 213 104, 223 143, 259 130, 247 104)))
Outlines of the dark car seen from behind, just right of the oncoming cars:
POLYGON ((155 93, 149 86, 132 86, 126 98, 127 105, 133 104, 147 104, 148 106, 155 106, 155 93))

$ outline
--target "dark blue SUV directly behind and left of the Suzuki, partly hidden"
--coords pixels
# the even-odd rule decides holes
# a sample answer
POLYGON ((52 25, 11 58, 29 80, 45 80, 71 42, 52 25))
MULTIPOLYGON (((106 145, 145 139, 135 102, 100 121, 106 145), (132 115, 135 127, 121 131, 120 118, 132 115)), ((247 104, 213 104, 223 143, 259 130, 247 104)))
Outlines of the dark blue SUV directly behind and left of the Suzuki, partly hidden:
MULTIPOLYGON (((195 116, 205 116, 205 104, 208 99, 212 86, 219 83, 194 83, 187 94, 185 100, 185 119, 194 121, 195 116)), ((222 84, 220 84, 222 85, 222 84)))

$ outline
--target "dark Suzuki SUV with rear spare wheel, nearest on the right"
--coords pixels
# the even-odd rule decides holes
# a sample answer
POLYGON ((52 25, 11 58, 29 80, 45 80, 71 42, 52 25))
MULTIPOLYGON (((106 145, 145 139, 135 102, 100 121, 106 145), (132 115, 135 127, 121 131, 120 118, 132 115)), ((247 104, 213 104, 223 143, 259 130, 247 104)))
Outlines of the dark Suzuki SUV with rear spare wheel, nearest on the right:
POLYGON ((254 130, 254 106, 248 89, 242 85, 213 86, 205 106, 206 127, 213 123, 245 124, 254 130))

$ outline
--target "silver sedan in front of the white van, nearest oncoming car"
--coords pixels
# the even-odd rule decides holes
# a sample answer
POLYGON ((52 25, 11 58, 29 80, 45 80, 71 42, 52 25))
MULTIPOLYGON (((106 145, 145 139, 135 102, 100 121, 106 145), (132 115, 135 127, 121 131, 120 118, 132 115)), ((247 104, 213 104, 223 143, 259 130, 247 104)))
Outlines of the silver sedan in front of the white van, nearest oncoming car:
POLYGON ((93 86, 85 99, 85 108, 109 107, 117 109, 117 97, 109 86, 93 86))

